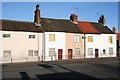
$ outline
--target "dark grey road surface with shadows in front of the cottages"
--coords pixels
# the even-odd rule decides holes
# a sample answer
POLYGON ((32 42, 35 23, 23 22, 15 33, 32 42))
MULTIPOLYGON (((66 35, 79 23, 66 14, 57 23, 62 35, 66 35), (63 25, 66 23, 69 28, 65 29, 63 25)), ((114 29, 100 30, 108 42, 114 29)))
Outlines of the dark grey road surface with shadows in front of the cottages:
POLYGON ((119 58, 75 59, 2 65, 2 80, 120 80, 119 58))

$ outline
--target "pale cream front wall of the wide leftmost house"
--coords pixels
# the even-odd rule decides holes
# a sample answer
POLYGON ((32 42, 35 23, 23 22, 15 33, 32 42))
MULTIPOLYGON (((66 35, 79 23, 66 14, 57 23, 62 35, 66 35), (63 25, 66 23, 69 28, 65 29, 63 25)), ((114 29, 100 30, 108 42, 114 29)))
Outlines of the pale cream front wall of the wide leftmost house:
MULTIPOLYGON (((3 51, 11 50, 13 62, 20 61, 34 61, 38 57, 28 57, 28 50, 38 50, 38 33, 35 32, 16 32, 16 31, 2 31, 0 33, 2 40, 1 56, 3 60, 3 51), (2 34, 11 34, 11 38, 2 38, 2 34), (29 39, 29 35, 35 35, 35 39, 29 39)), ((42 53, 42 33, 39 33, 39 56, 42 53)), ((41 58, 41 56, 40 56, 41 58)), ((10 61, 10 60, 9 60, 10 61)))

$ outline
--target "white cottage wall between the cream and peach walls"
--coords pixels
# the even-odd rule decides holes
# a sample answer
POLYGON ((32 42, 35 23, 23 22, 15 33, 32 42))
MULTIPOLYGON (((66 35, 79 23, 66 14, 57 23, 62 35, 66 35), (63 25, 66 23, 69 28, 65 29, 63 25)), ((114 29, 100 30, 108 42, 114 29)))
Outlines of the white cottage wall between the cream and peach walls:
POLYGON ((55 48, 56 57, 53 60, 58 60, 58 49, 63 50, 62 58, 65 59, 65 33, 64 32, 45 32, 45 61, 51 61, 49 56, 49 48, 55 48), (55 34, 55 41, 49 41, 49 34, 55 34))

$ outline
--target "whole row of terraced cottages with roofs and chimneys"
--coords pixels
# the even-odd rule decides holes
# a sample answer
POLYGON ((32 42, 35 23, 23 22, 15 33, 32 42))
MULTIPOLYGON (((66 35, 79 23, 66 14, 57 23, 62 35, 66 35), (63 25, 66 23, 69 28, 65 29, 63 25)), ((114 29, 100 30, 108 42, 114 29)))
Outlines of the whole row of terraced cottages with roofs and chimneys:
POLYGON ((116 57, 116 34, 98 22, 41 18, 36 6, 34 22, 0 20, 0 61, 54 61, 116 57))

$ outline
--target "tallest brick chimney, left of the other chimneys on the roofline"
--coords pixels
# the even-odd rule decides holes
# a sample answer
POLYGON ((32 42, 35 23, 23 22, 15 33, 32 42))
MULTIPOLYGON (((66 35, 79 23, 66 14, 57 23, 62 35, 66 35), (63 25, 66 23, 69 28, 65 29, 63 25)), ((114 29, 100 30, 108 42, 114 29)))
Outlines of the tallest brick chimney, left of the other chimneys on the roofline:
POLYGON ((35 15, 34 15, 34 23, 36 25, 36 27, 40 27, 41 26, 41 19, 40 19, 40 9, 39 9, 39 5, 36 5, 36 10, 35 10, 35 15))

